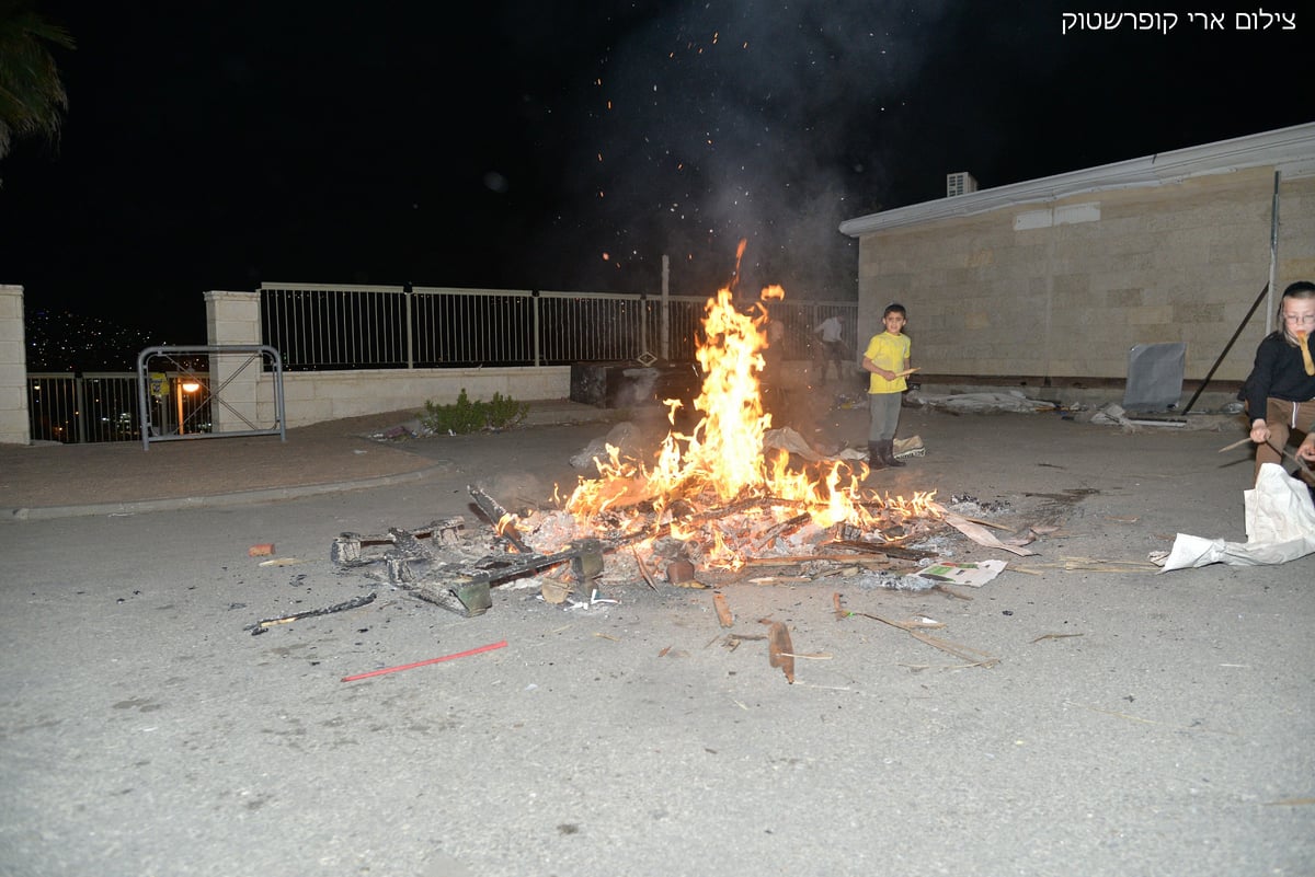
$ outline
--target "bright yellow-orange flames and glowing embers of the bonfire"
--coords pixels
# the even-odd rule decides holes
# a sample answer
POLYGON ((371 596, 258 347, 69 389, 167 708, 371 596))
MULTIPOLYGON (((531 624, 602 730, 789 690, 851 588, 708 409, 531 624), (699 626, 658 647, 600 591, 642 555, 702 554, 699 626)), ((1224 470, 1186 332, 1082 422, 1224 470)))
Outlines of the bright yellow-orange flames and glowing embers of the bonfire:
MULTIPOLYGON (((772 286, 761 298, 784 294, 772 286)), ((707 566, 738 568, 746 550, 761 547, 784 529, 847 524, 881 538, 882 529, 905 520, 938 516, 935 491, 918 492, 911 500, 865 492, 860 484, 868 467, 863 463, 825 462, 800 470, 790 467, 784 450, 764 454, 763 440, 772 428, 759 387, 765 323, 761 305, 750 314, 738 311, 730 289, 709 299, 697 351, 705 374, 693 403, 698 423, 688 435, 677 432, 681 403, 668 399, 672 431, 651 467, 622 460, 609 445, 609 458, 596 461, 600 478, 580 479, 565 503, 583 530, 651 526, 654 537, 698 542, 707 566), (602 515, 608 526, 598 521, 602 515), (763 533, 773 536, 764 540, 763 533)))

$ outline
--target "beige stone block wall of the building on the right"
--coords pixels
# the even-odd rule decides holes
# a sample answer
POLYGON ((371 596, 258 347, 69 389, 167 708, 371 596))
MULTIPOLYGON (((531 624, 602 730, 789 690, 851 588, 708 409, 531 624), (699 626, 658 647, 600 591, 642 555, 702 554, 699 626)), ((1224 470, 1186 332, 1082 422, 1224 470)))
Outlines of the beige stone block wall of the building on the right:
POLYGON ((869 225, 856 235, 860 339, 899 302, 920 379, 1122 379, 1134 345, 1181 341, 1185 377, 1199 381, 1243 327, 1212 375, 1241 381, 1273 312, 1265 299, 1247 318, 1269 282, 1276 169, 1276 289, 1315 280, 1312 163, 1223 163, 1049 198, 1034 181, 1016 203, 953 215, 948 200, 926 205, 927 219, 852 221, 869 225))

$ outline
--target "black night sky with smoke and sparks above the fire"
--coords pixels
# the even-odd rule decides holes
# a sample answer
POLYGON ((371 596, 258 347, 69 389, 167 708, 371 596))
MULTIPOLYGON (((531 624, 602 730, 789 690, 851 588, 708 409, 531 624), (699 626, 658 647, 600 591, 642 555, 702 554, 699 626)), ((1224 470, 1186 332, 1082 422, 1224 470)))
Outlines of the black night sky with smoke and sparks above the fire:
POLYGON ((750 289, 853 298, 839 223, 949 172, 1315 121, 1301 17, 1064 34, 1091 7, 1006 5, 49 0, 70 110, 0 160, 0 282, 172 344, 262 281, 659 291, 667 253, 711 295, 742 238, 750 289))

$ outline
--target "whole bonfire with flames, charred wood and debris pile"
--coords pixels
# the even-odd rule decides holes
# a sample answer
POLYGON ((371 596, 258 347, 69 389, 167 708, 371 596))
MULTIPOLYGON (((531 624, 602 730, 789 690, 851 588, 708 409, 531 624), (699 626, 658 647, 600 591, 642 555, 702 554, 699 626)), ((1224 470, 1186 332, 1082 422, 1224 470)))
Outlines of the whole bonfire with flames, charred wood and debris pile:
MULTIPOLYGON (((764 299, 781 295, 780 288, 763 293, 764 299)), ((667 400, 671 429, 651 457, 626 456, 608 445, 606 456, 593 461, 597 477, 581 477, 551 511, 515 515, 472 486, 471 496, 494 524, 492 530, 468 533, 454 517, 376 536, 343 533, 334 542, 334 562, 342 568, 373 568, 376 578, 387 570, 391 584, 473 616, 489 608, 490 586, 514 579, 538 582, 550 603, 563 603, 575 589, 588 601, 572 605, 588 607, 615 603, 600 597, 597 586, 605 579, 642 576, 656 589, 658 571, 675 586, 719 587, 742 578, 740 570, 751 565, 794 567, 803 576, 752 582, 813 580, 863 568, 874 587, 939 588, 938 582, 952 579, 907 576, 901 567, 931 561, 935 553, 919 545, 947 526, 980 545, 1034 553, 1023 547, 1031 537, 1001 542, 981 523, 943 508, 935 491, 918 491, 907 500, 882 496, 864 487, 868 467, 861 460, 821 454, 798 433, 781 440, 780 433, 792 431, 773 429, 759 383, 765 307, 757 302, 742 311, 731 291, 722 289, 705 310, 697 351, 705 377, 686 417, 694 425, 677 428, 681 403, 667 400), (559 571, 526 578, 548 570, 559 571)), ((836 601, 843 617, 839 595, 836 601)), ((347 604, 316 614, 341 608, 347 604)), ((784 659, 789 649, 777 651, 784 659)))

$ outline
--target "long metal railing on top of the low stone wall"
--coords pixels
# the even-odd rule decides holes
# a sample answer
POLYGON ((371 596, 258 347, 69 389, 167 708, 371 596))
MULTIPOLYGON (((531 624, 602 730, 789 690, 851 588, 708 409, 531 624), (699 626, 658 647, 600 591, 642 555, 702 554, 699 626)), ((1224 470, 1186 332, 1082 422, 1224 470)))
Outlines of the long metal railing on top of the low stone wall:
MULTIPOLYGON (((692 362, 706 297, 550 290, 262 284, 262 340, 287 370, 431 369, 654 360, 692 362)), ((744 299, 743 307, 751 307, 744 299)), ((853 302, 777 301, 786 357, 813 356, 831 315, 846 337, 853 302)))

